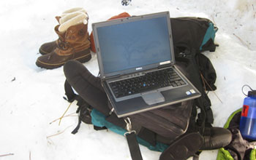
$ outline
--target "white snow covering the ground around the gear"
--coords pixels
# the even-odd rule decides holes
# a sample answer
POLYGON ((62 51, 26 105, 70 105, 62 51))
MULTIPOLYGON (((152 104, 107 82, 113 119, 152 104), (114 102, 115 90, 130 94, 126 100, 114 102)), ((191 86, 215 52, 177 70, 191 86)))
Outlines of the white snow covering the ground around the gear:
MULTIPOLYGON (((45 70, 35 65, 41 44, 57 39, 55 16, 72 7, 84 7, 91 23, 128 12, 143 15, 170 11, 171 17, 197 16, 212 20, 219 31, 216 52, 204 52, 217 71, 216 94, 209 93, 214 126, 222 127, 230 113, 241 108, 241 87, 256 89, 256 2, 254 0, 132 0, 124 7, 121 0, 10 0, 0 4, 1 79, 0 79, 0 158, 1 159, 131 159, 127 141, 111 131, 95 131, 78 122, 75 103, 69 106, 64 96, 63 68, 45 70), (52 123, 51 123, 52 122, 52 123), (58 134, 59 135, 56 135, 58 134), (11 153, 11 154, 10 154, 11 153), (10 154, 8 156, 3 156, 10 154)), ((97 75, 97 57, 84 63, 97 75)), ((159 152, 140 145, 143 159, 159 159, 159 152)), ((216 159, 217 150, 203 151, 200 159, 216 159)))

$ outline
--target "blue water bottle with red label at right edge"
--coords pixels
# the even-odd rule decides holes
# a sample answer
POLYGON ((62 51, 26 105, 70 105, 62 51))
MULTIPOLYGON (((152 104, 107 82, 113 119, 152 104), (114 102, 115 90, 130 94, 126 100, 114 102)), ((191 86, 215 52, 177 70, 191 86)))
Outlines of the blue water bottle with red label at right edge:
MULTIPOLYGON (((245 86, 249 87, 248 85, 245 86)), ((249 89, 251 90, 244 98, 239 129, 244 139, 256 140, 256 90, 251 87, 249 89)))

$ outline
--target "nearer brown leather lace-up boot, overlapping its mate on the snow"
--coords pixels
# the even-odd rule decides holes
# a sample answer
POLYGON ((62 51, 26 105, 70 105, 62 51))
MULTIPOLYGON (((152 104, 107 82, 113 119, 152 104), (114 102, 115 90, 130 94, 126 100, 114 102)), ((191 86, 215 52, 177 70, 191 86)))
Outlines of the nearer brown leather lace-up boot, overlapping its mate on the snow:
POLYGON ((41 68, 53 69, 64 65, 68 60, 78 60, 85 63, 91 60, 88 24, 78 24, 70 26, 64 33, 59 32, 59 25, 55 27, 59 39, 50 42, 56 45, 48 55, 37 58, 36 65, 41 68))

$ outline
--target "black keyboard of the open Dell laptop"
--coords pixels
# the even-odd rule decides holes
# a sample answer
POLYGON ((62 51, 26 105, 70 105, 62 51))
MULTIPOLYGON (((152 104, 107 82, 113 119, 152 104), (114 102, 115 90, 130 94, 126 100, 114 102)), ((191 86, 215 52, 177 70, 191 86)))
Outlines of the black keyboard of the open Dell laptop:
POLYGON ((140 92, 147 92, 162 87, 179 87, 186 84, 173 68, 166 68, 159 71, 146 73, 131 79, 114 81, 110 87, 116 97, 134 95, 140 92))

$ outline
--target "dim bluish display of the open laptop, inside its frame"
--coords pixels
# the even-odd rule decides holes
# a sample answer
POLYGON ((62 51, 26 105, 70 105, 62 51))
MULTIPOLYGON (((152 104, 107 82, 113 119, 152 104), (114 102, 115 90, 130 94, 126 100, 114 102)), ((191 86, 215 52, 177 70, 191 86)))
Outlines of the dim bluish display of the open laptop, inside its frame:
POLYGON ((172 57, 166 17, 99 27, 97 36, 107 74, 170 62, 172 57))

